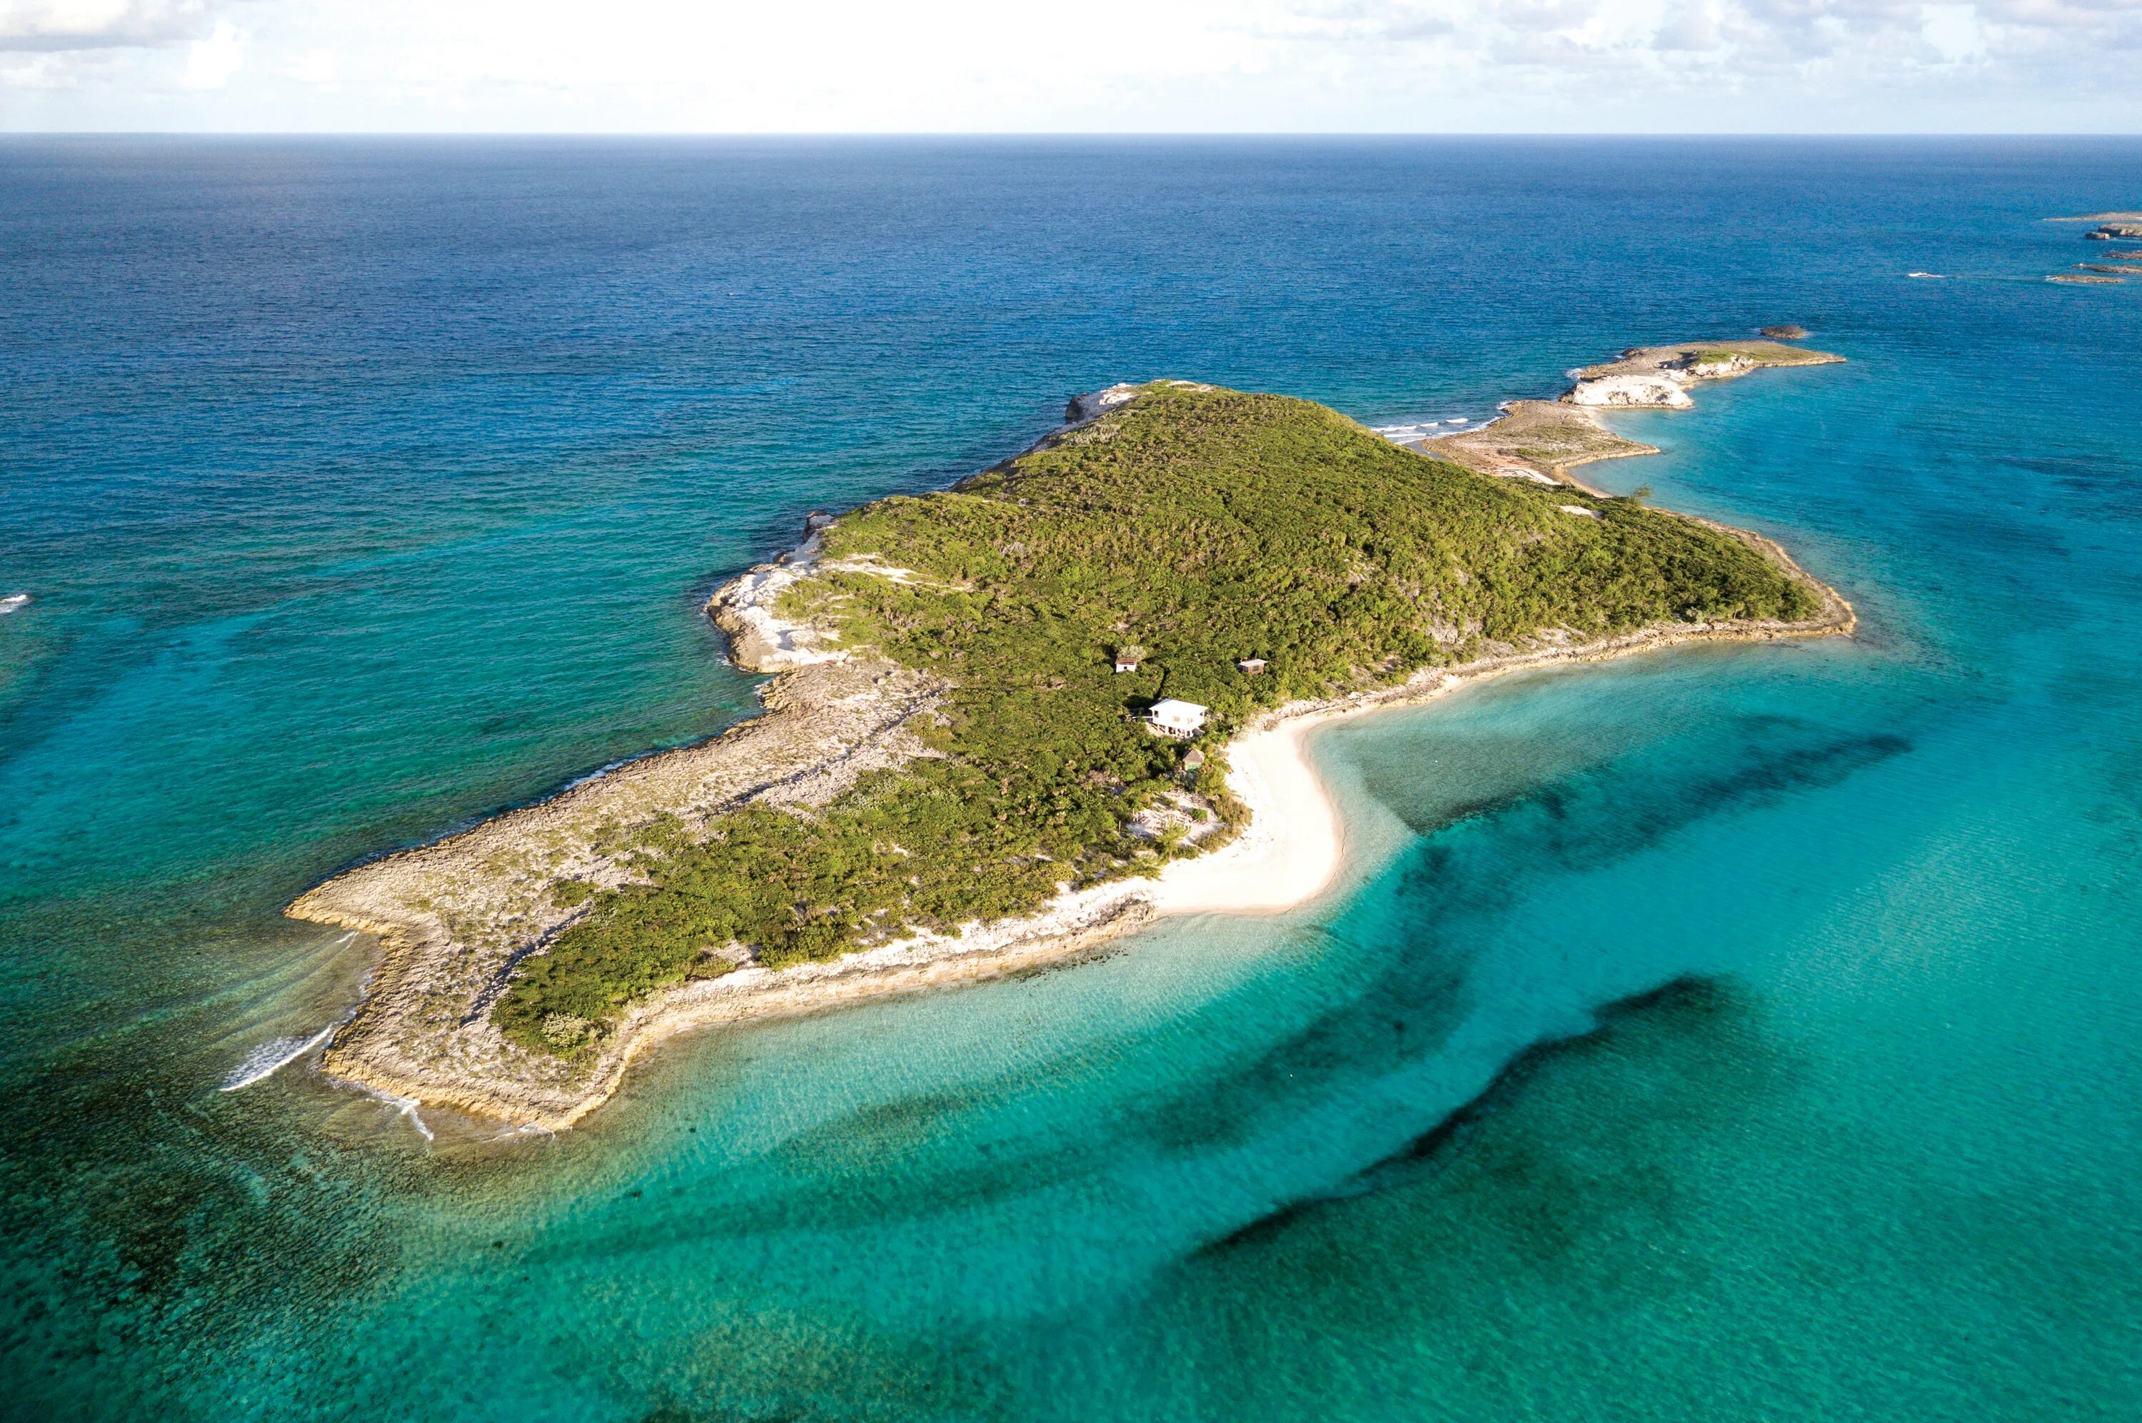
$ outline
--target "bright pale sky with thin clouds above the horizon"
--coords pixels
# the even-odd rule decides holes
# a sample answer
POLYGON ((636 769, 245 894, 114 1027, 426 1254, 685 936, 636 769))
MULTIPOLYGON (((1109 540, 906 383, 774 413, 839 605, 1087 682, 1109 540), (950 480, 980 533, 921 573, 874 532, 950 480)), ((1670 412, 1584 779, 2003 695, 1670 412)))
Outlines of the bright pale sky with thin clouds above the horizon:
POLYGON ((0 131, 2142 133, 2142 0, 0 0, 0 131))

